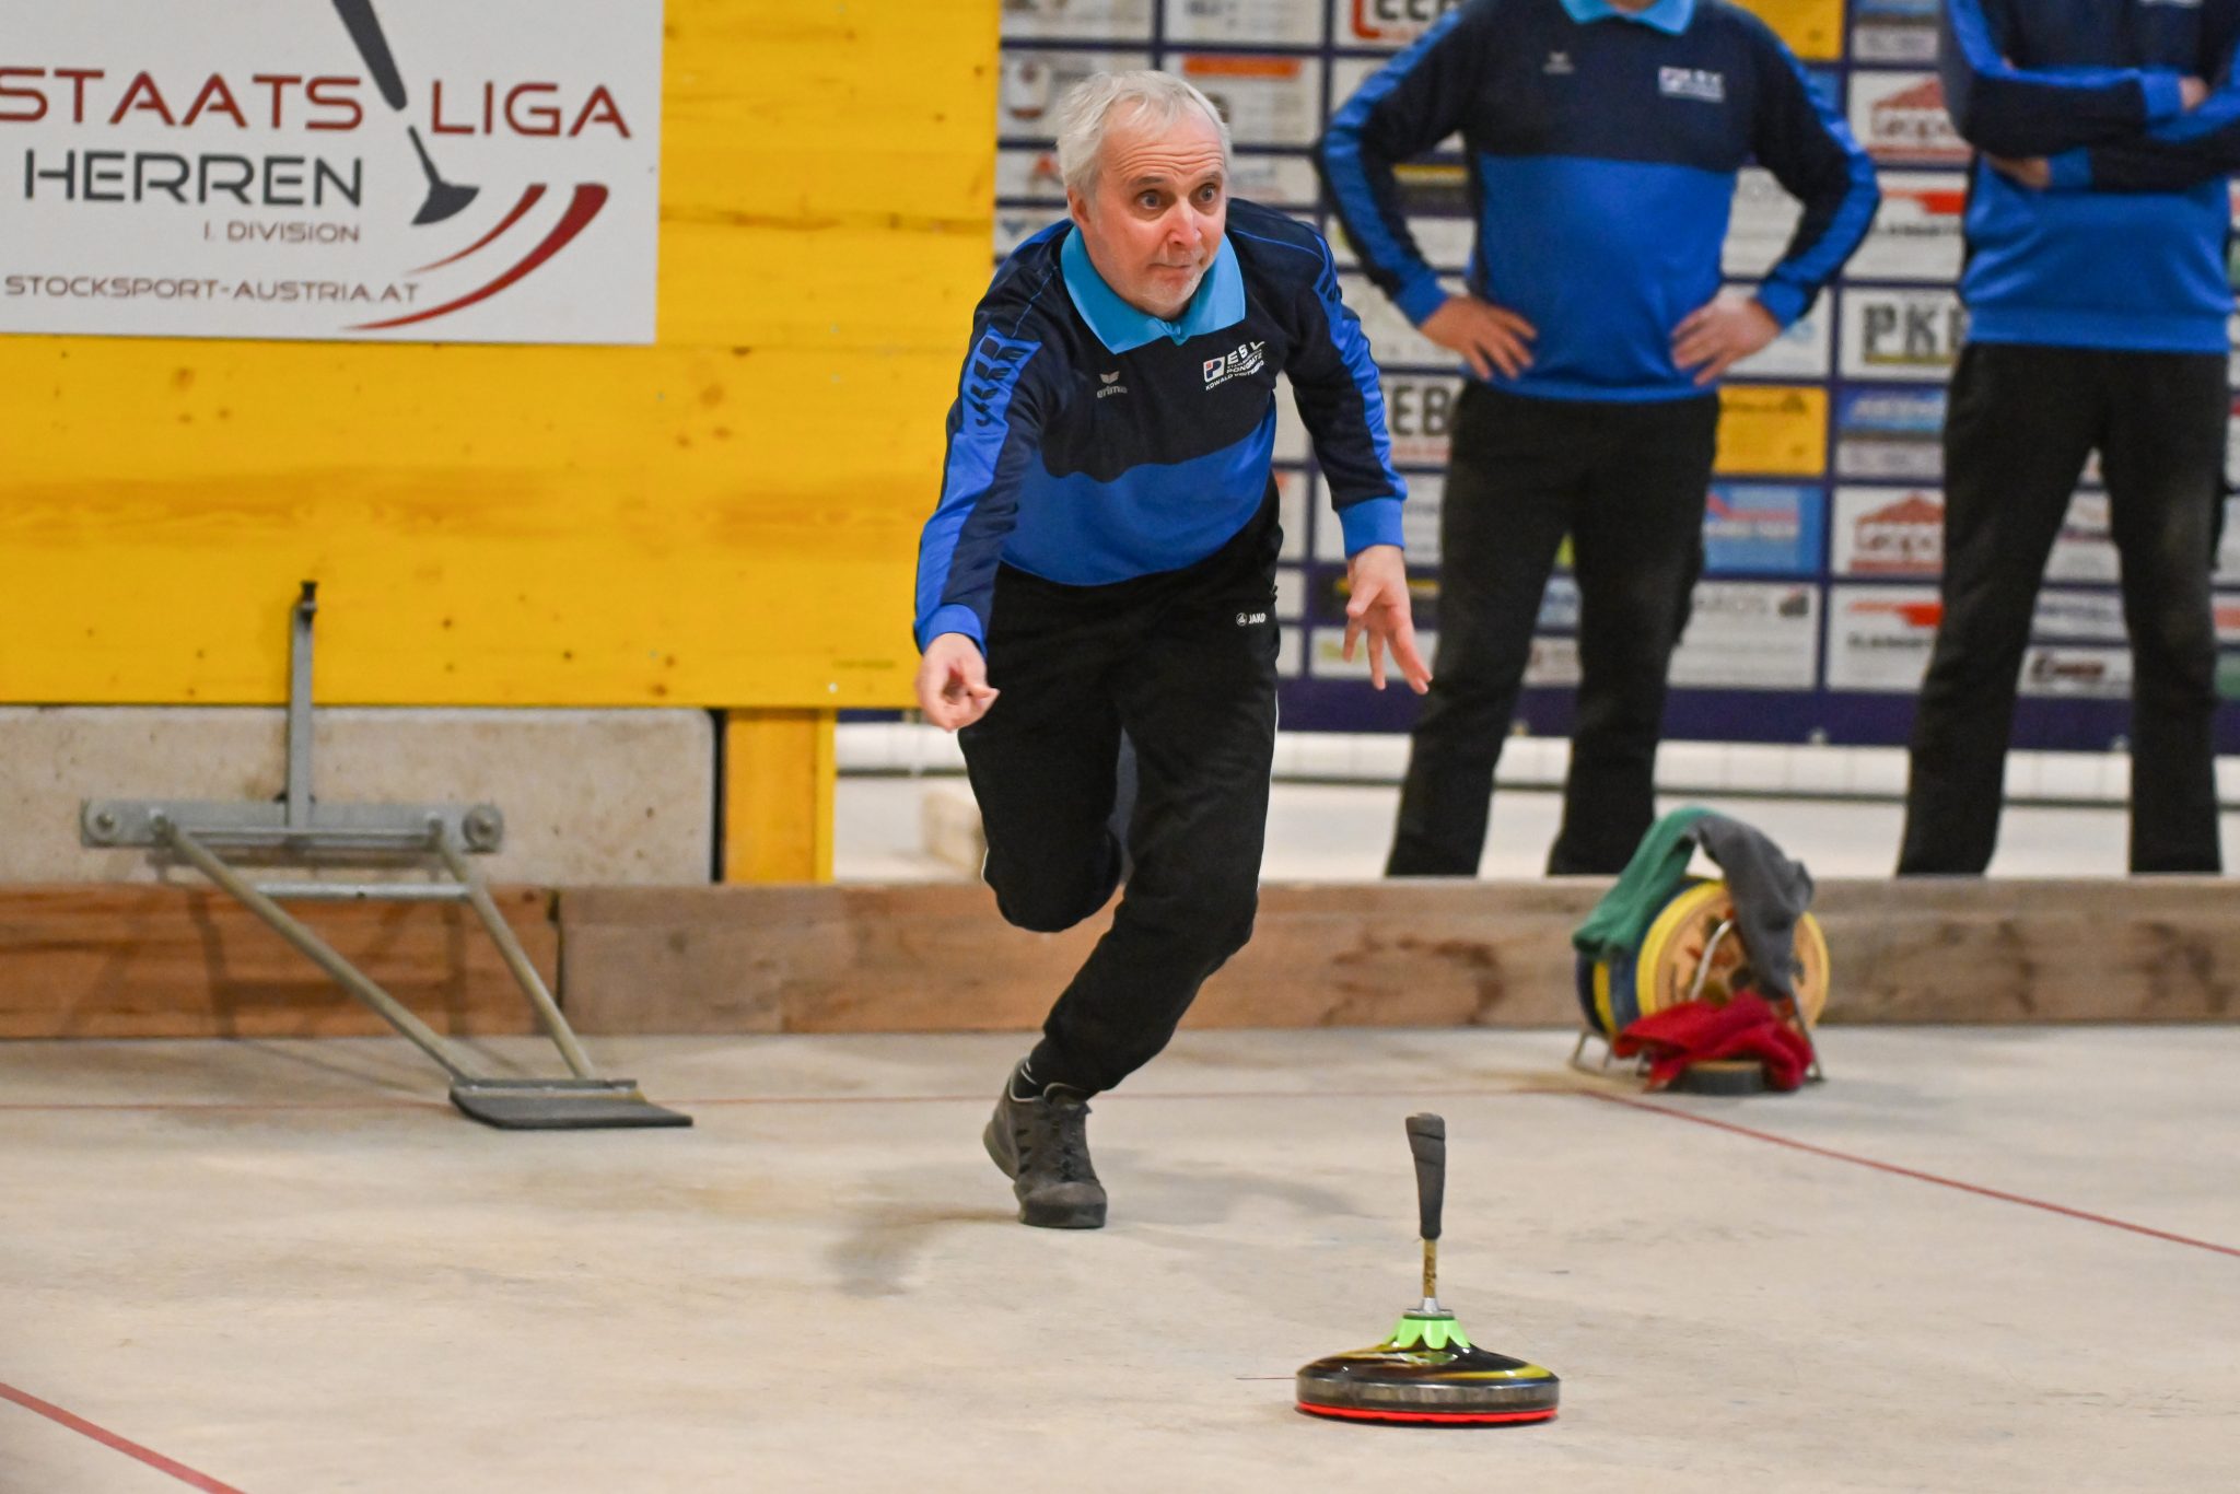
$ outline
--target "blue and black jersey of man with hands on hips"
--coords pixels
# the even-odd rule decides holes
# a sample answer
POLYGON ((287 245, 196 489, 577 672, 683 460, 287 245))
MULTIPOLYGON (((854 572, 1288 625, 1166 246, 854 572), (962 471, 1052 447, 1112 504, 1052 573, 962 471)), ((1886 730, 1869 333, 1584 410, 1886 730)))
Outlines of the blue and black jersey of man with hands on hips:
POLYGON ((1875 170, 1765 22, 1716 0, 1469 0, 1371 76, 1317 157, 1369 276, 1422 323, 1445 300, 1393 164, 1460 130, 1474 296, 1539 338, 1499 387, 1555 399, 1700 394, 1673 327, 1718 293, 1734 177, 1756 159, 1805 204, 1758 300, 1803 316, 1866 237, 1875 170))

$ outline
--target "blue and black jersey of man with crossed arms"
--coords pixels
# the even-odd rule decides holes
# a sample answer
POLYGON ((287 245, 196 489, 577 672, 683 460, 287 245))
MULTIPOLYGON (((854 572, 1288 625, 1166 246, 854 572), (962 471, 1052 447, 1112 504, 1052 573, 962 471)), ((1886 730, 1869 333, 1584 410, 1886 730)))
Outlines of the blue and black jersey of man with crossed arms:
POLYGON ((1973 340, 2224 352, 2236 36, 2240 0, 1944 0, 1953 125, 2052 170, 2034 190, 1976 161, 1960 278, 1973 340), (2191 114, 2186 74, 2224 81, 2191 114))

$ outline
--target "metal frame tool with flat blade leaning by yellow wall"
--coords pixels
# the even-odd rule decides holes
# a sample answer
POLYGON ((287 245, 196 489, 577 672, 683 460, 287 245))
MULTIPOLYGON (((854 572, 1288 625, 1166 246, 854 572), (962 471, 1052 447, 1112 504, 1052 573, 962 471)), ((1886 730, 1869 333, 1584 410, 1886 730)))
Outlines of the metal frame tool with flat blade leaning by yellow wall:
POLYGON ((311 620, 316 582, 302 582, 289 636, 287 793, 280 802, 85 800, 78 838, 87 847, 172 851, 262 918, 343 990, 370 1006, 450 1075, 450 1102, 461 1113, 506 1131, 591 1131, 609 1127, 688 1127, 692 1118, 652 1104, 634 1080, 605 1080, 560 1015, 520 939, 500 916, 468 853, 491 853, 504 840, 495 804, 320 804, 311 795, 311 620), (435 883, 251 883, 220 847, 260 860, 349 860, 354 865, 426 865, 435 883), (497 943, 522 997, 560 1048, 564 1080, 506 1080, 479 1073, 459 1046, 381 990, 334 945, 280 903, 466 903, 497 943))

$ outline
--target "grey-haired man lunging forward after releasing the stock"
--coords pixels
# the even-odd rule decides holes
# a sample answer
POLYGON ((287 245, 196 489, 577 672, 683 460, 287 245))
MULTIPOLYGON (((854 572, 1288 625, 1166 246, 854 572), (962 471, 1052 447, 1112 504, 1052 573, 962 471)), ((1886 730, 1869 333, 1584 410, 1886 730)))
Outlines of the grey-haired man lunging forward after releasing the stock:
POLYGON ((1180 78, 1102 74, 1057 110, 1066 222, 997 271, 918 549, 918 703, 961 730, 988 885, 1026 930, 1111 932, 1004 1084, 983 1142, 1019 1218, 1104 1223, 1089 1095, 1151 1059, 1252 936, 1275 755, 1275 379, 1346 535, 1346 659, 1422 690, 1369 340, 1322 237, 1228 195, 1230 137, 1180 78), (1140 797, 1120 833, 1116 764, 1140 797))

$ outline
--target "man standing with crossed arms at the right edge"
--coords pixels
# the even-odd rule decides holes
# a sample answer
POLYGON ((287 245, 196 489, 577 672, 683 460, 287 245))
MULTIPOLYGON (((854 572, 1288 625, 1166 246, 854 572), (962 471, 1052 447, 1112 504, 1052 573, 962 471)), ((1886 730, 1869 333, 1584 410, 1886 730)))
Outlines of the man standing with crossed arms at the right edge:
POLYGON ((2227 172, 2236 0, 1944 0, 1938 69, 1982 155, 1944 421, 1944 614, 1900 874, 1980 874, 2045 560, 2092 450, 2130 634, 2130 869, 2218 871, 2227 172))

